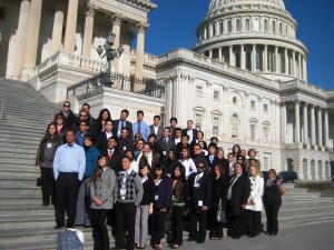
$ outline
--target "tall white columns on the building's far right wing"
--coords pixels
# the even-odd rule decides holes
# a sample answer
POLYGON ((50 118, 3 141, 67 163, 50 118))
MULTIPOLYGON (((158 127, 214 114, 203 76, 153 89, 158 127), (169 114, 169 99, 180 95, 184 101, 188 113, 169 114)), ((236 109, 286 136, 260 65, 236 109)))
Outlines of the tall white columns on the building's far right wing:
MULTIPOLYGON (((321 108, 321 107, 314 107, 313 104, 310 106, 310 123, 308 124, 308 104, 306 102, 302 102, 303 106, 303 138, 301 138, 301 102, 295 101, 294 102, 294 141, 296 143, 308 143, 308 126, 311 126, 311 146, 320 146, 328 148, 328 111, 327 109, 321 108), (315 114, 316 113, 316 114, 315 114), (316 131, 317 128, 317 131, 316 131), (324 131, 323 131, 324 129, 324 131), (316 134, 317 132, 317 134, 316 134), (316 137, 317 136, 317 137, 316 137), (324 137, 324 141, 323 141, 324 137), (317 141, 316 141, 317 138, 317 141)), ((286 124, 286 103, 283 103, 282 106, 282 131, 285 131, 285 124, 286 124), (285 123, 285 124, 284 124, 285 123)), ((285 141, 285 133, 282 137, 282 141, 285 141)))

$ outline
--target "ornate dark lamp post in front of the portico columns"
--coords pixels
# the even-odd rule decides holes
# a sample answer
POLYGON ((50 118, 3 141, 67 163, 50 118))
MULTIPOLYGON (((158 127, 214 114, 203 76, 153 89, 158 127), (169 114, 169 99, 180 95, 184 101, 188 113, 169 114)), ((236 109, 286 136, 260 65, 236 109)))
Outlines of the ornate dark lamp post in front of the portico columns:
POLYGON ((114 83, 111 81, 111 77, 112 77, 111 62, 114 61, 115 58, 119 58, 124 52, 122 46, 119 46, 117 48, 117 50, 112 48, 114 42, 115 42, 115 37, 116 37, 115 33, 109 31, 108 34, 107 34, 106 43, 104 44, 105 49, 101 46, 98 46, 98 48, 97 48, 97 52, 98 52, 100 58, 107 57, 108 69, 107 69, 107 72, 106 72, 106 74, 107 74, 106 83, 110 83, 110 86, 112 86, 112 83, 114 83))

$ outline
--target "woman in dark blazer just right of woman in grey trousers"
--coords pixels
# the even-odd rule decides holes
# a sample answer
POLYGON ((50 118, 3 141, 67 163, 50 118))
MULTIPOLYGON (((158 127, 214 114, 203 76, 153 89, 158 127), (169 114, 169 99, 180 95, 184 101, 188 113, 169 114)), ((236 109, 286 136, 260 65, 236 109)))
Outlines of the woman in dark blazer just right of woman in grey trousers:
POLYGON ((151 224, 151 247, 156 250, 161 249, 161 237, 164 232, 164 224, 167 209, 170 207, 171 201, 171 181, 165 173, 165 166, 157 163, 154 168, 155 180, 155 201, 151 224))

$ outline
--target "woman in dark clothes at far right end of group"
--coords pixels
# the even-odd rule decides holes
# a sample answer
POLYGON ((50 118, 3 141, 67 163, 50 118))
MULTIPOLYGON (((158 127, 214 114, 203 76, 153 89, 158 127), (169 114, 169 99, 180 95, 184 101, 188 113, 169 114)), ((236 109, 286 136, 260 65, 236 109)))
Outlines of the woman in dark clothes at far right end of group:
POLYGON ((268 180, 264 187, 264 206, 267 216, 267 232, 269 236, 276 236, 278 232, 278 210, 282 204, 282 196, 285 193, 282 181, 276 177, 276 171, 268 171, 268 180))

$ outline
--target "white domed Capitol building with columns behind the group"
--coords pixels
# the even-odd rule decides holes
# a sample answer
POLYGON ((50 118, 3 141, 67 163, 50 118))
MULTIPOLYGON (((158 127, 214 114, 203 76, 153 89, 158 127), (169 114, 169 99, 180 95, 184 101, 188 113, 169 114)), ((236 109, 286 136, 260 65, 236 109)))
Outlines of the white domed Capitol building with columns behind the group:
POLYGON ((308 50, 283 0, 212 0, 196 44, 160 56, 145 53, 156 8, 149 0, 2 0, 0 76, 29 81, 55 103, 68 99, 76 111, 89 102, 94 116, 108 108, 118 119, 127 108, 134 121, 143 109, 148 123, 160 114, 183 128, 193 119, 225 152, 255 148, 263 170, 330 178, 334 90, 307 81, 308 50), (111 88, 90 80, 106 71, 97 48, 110 30, 114 47, 125 49, 111 88))

